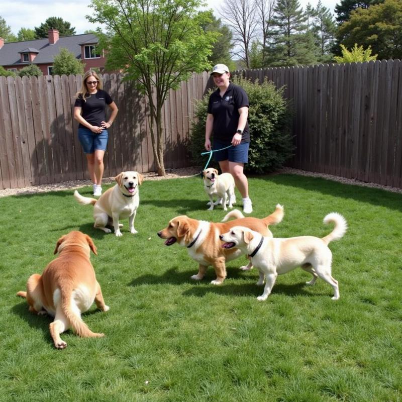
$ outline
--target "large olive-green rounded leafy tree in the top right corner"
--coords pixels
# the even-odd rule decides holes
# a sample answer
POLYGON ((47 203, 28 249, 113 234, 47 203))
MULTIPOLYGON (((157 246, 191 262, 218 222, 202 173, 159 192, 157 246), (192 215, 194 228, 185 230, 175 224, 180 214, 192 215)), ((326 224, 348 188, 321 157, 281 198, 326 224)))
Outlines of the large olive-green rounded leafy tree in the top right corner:
POLYGON ((337 38, 347 48, 355 43, 371 46, 379 59, 402 58, 402 2, 385 0, 368 9, 358 9, 338 29, 337 38))

